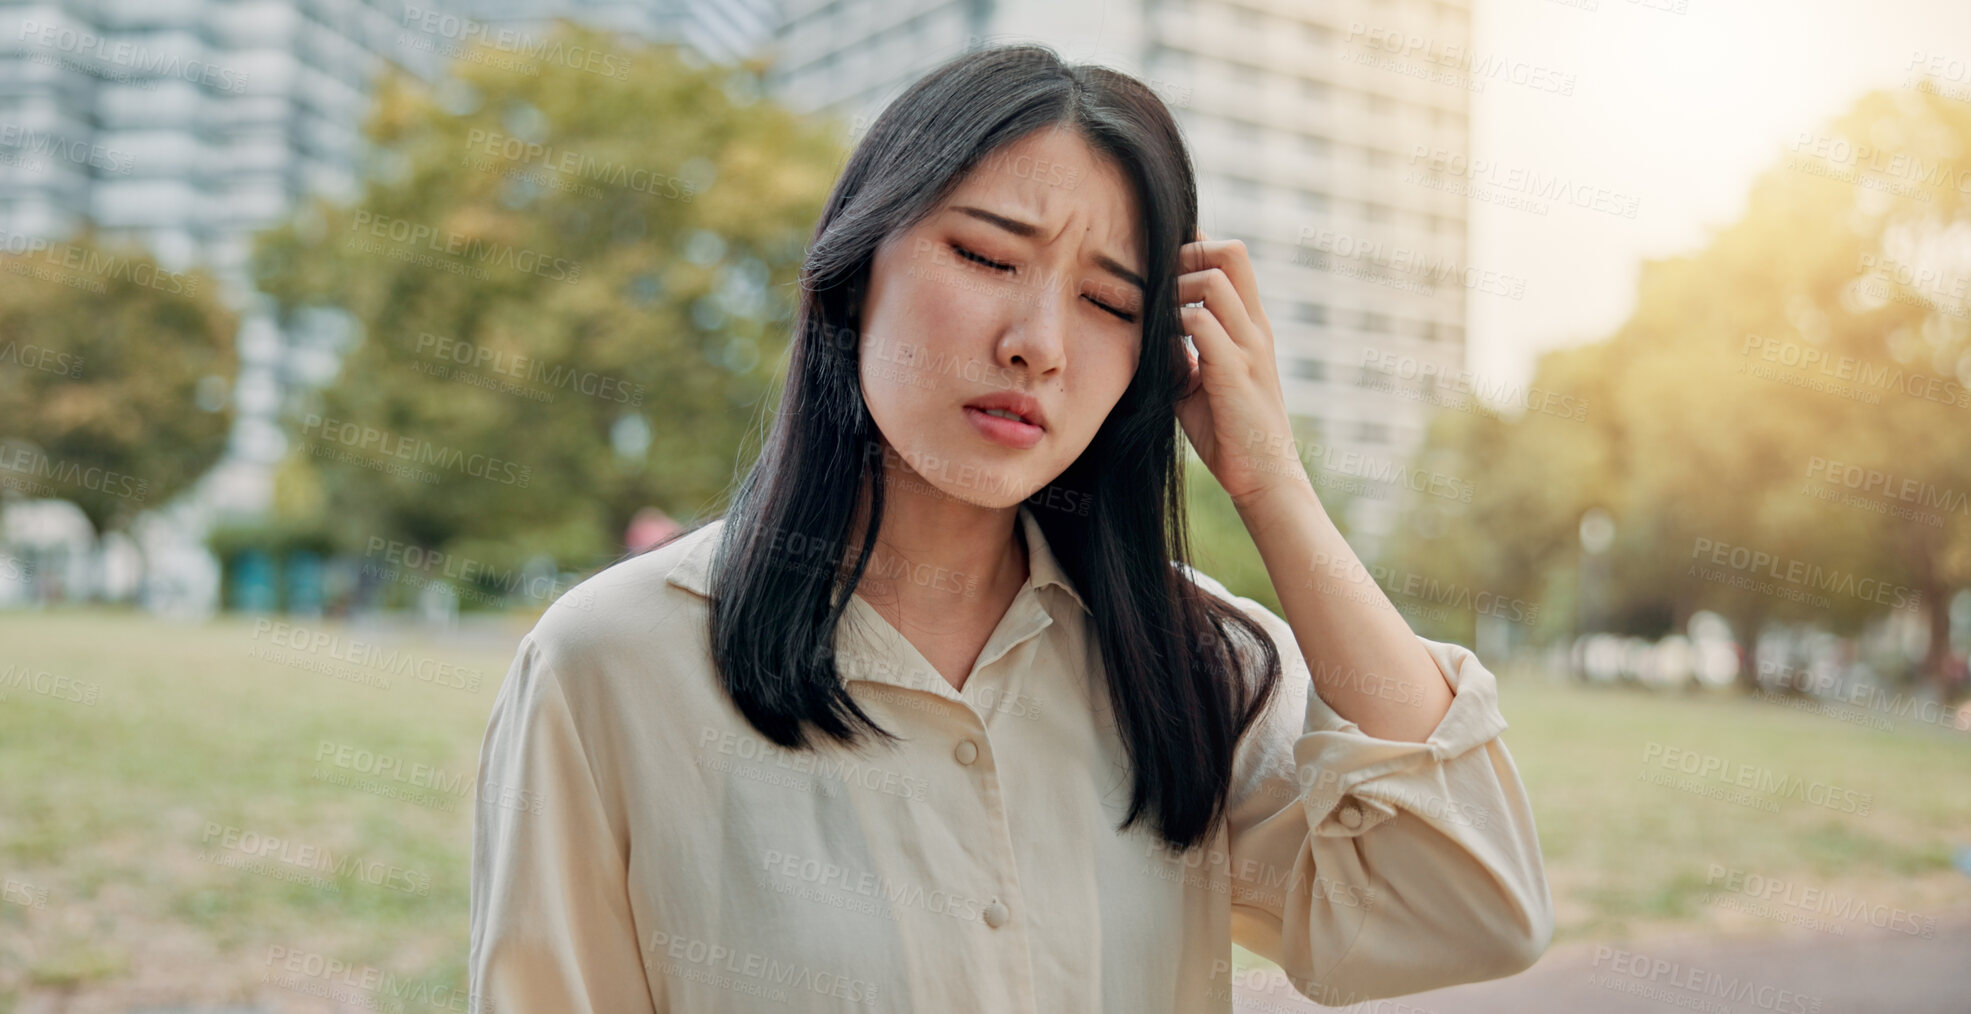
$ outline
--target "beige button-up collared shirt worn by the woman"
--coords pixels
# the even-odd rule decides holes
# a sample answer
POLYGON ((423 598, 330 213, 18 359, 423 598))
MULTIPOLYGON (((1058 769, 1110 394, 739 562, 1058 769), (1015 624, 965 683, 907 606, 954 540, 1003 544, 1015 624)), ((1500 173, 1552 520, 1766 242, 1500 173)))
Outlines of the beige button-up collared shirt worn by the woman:
MULTIPOLYGON (((479 756, 469 977, 501 1014, 1062 1012, 1232 1006, 1232 943, 1340 1006, 1528 967, 1553 904, 1478 659, 1429 742, 1311 692, 1240 742, 1208 848, 1125 834, 1129 779, 1088 610, 1021 507, 1029 580, 964 692, 851 596, 838 665, 895 752, 788 752, 710 663, 708 525, 558 600, 479 756)), ((1395 685, 1401 687, 1401 685, 1395 685)))

